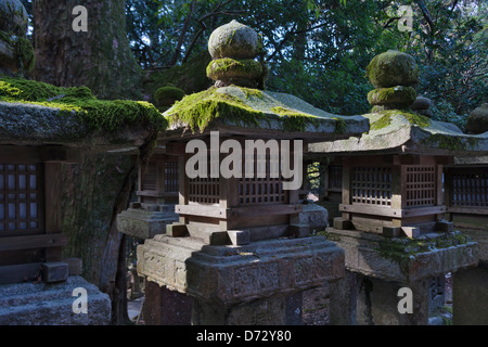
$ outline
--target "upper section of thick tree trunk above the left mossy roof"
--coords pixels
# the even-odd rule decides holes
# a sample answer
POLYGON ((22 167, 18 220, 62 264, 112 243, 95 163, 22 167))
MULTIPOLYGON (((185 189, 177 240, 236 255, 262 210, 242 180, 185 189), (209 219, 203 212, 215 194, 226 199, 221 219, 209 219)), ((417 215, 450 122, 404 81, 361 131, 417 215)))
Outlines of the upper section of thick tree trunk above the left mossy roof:
POLYGON ((129 47, 124 0, 86 0, 88 31, 75 31, 75 0, 35 0, 35 78, 86 86, 100 99, 139 97, 142 70, 129 47))

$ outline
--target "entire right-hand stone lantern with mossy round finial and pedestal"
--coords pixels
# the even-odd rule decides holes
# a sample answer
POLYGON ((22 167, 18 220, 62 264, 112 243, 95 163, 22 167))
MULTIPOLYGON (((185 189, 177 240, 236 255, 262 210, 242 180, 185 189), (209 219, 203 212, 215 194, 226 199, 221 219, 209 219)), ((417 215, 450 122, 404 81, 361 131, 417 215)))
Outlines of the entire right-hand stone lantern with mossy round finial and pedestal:
POLYGON ((370 131, 309 144, 310 152, 342 162, 342 217, 326 233, 357 278, 348 290, 351 297, 358 291, 358 323, 427 324, 433 280, 478 261, 478 245, 444 218, 442 167, 455 155, 486 154, 488 137, 399 110, 416 97, 411 56, 388 51, 368 70, 376 87, 368 95, 373 112, 363 115, 370 131), (401 287, 413 292, 413 313, 397 310, 401 287))

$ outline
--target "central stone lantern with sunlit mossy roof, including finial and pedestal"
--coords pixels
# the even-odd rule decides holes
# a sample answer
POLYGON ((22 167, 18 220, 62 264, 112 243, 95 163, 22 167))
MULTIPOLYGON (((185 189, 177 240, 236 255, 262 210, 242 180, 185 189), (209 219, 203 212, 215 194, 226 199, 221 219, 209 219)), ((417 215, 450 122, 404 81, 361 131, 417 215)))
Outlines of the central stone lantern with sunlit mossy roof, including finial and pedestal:
POLYGON ((165 112, 171 126, 158 145, 178 156, 179 221, 138 247, 150 324, 298 324, 304 291, 343 275, 342 250, 297 222, 300 155, 308 142, 367 131, 367 121, 257 89, 267 70, 259 47, 235 21, 216 29, 216 86, 165 112))

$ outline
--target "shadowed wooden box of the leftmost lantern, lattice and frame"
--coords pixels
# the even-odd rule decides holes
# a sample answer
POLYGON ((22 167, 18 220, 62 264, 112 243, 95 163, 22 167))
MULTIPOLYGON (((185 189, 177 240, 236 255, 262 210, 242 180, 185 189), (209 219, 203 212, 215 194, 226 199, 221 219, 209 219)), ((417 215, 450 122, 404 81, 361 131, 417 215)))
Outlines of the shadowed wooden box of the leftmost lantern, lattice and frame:
POLYGON ((0 283, 37 280, 42 264, 62 260, 62 163, 76 157, 62 146, 0 146, 0 283))

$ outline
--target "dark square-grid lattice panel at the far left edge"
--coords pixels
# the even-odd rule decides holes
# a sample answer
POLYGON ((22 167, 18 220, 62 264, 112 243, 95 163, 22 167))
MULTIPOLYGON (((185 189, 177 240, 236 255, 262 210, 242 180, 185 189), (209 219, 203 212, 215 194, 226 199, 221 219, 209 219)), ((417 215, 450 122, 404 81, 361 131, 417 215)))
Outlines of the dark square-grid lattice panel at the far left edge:
POLYGON ((42 166, 0 164, 0 235, 42 231, 42 166))

